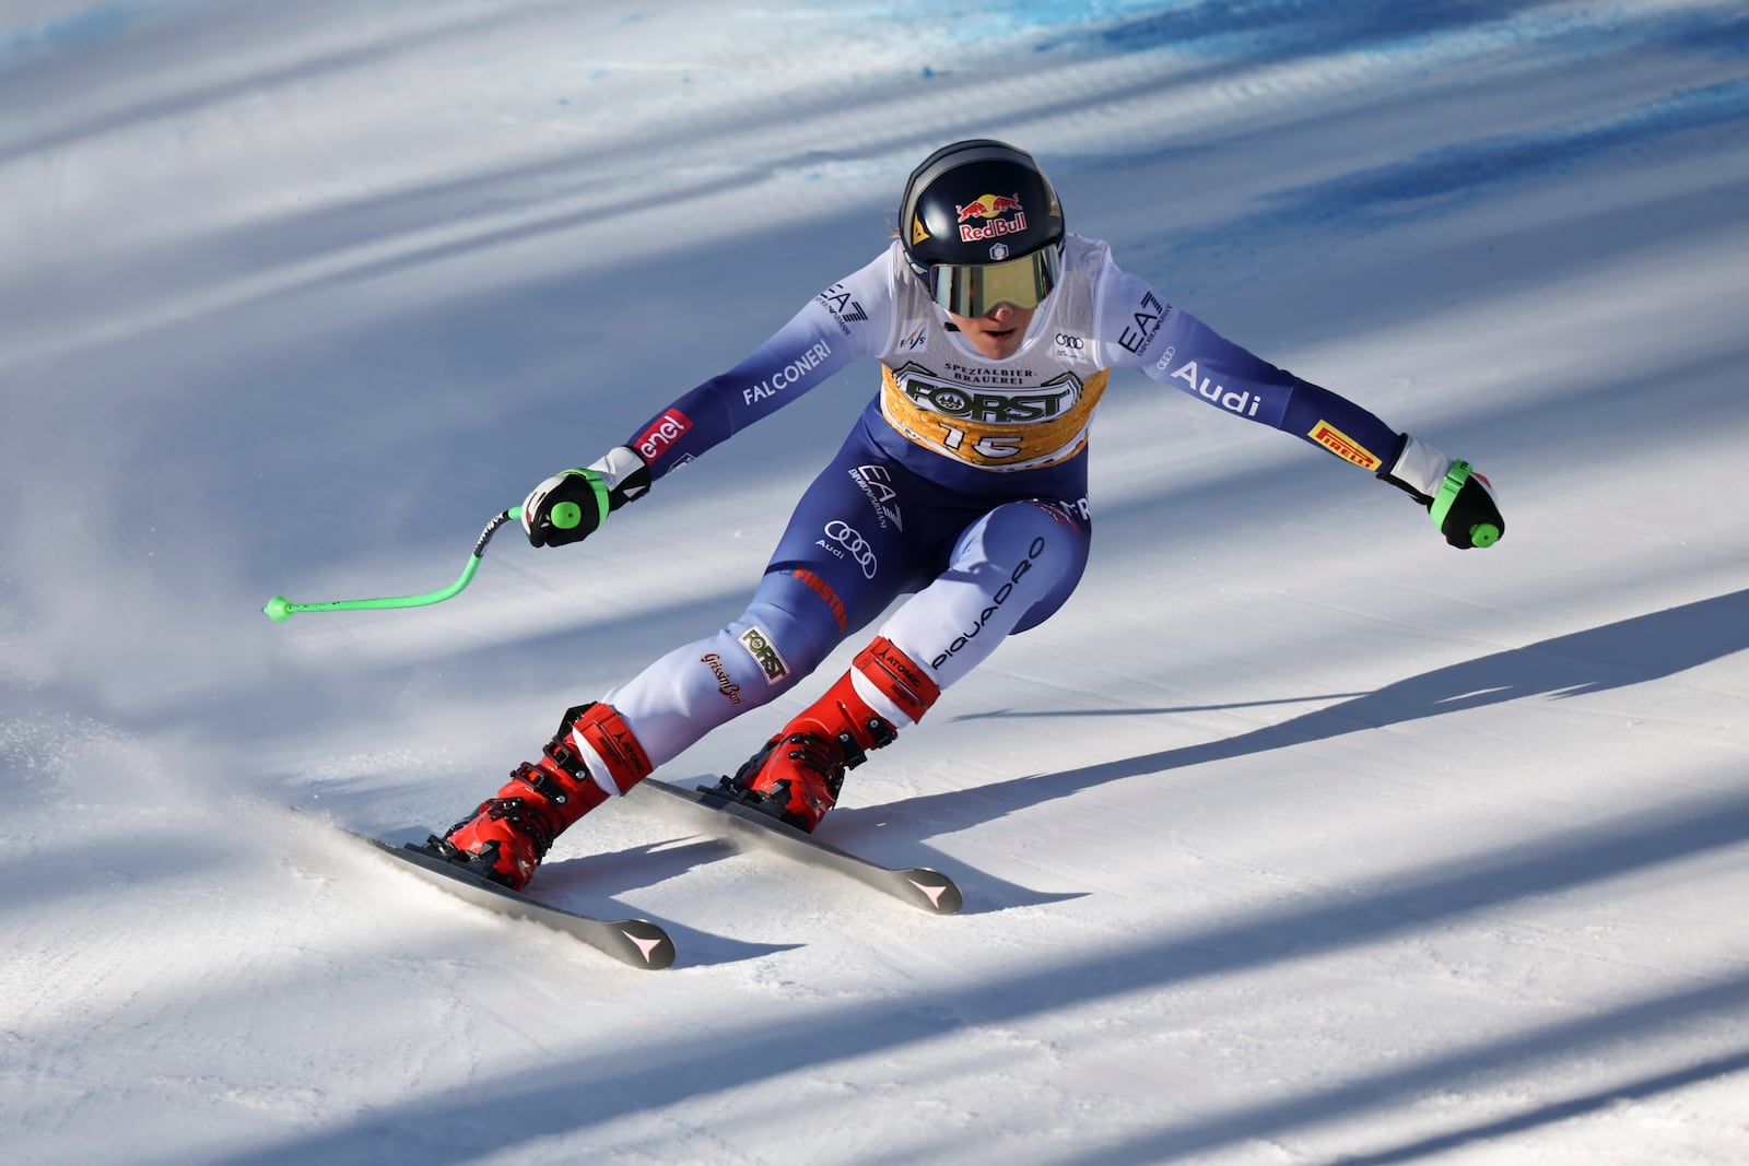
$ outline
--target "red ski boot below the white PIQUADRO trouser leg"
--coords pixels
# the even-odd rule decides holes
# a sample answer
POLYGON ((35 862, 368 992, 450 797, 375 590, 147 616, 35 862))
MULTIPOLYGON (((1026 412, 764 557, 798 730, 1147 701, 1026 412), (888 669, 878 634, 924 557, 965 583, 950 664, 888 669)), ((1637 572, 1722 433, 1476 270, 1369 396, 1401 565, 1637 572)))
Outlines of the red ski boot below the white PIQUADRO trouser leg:
POLYGON ((869 708, 852 677, 862 673, 913 722, 936 703, 941 689, 885 638, 876 638, 819 701, 766 741, 722 787, 733 797, 810 834, 838 802, 845 771, 868 760, 868 750, 890 745, 899 731, 869 708))

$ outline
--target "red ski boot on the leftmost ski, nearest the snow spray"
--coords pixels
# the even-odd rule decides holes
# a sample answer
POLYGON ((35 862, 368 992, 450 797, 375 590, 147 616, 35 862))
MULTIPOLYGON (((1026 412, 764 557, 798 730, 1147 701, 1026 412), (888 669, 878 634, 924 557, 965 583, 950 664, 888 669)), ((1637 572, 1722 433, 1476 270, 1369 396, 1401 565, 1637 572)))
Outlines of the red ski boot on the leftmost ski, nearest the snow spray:
MULTIPOLYGON (((535 867, 553 848, 553 839, 607 801, 607 790, 596 785, 572 746, 572 732, 596 745, 603 729, 614 732, 621 745, 635 748, 635 738, 610 706, 574 708, 565 713, 558 734, 540 750, 540 760, 518 766, 511 780, 483 801, 472 818, 456 822, 442 837, 434 836, 425 850, 511 890, 528 886, 535 867)), ((623 752, 607 755, 623 759, 623 752)), ((647 773, 649 766, 644 764, 642 773, 626 781, 621 792, 647 773)), ((619 774, 610 776, 619 780, 619 774)))

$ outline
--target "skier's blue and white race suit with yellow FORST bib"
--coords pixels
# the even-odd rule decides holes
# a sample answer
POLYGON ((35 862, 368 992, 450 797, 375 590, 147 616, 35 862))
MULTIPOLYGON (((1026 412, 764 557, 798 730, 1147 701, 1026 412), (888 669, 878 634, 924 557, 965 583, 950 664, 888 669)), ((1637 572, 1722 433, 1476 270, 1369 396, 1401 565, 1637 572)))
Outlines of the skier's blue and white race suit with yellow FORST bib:
POLYGON ((747 610, 603 698, 652 766, 787 692, 901 594, 880 635, 941 689, 1055 614, 1088 559, 1088 427, 1111 369, 1368 470, 1397 444, 1366 409, 1223 339, 1076 234, 1013 357, 972 351, 894 241, 628 444, 661 479, 857 357, 880 360, 880 392, 803 493, 747 610))

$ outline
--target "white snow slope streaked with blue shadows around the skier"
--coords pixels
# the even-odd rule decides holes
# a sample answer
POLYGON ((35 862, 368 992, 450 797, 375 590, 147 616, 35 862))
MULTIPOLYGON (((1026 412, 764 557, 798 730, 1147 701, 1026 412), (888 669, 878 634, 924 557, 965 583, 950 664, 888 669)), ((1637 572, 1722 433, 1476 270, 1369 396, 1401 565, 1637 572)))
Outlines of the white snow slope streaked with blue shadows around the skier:
POLYGON ((1749 1159, 1746 206, 1733 3, 3 5, 7 1149, 1749 1159), (1506 540, 1119 379, 1081 593, 824 830, 965 914, 633 794, 535 886, 668 921, 642 974, 329 830, 446 825, 735 615, 873 371, 446 605, 261 605, 448 584, 972 135, 1506 540))

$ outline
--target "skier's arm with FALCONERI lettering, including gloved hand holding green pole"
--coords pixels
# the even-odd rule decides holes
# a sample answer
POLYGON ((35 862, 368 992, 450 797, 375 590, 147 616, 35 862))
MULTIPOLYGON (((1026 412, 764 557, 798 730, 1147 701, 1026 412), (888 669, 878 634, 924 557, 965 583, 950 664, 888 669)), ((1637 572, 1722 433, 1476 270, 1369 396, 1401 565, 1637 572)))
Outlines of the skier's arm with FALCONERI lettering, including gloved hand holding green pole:
POLYGON ((591 535, 651 482, 770 416, 861 355, 883 351, 892 332, 890 253, 831 285, 747 360, 714 376, 645 421, 624 446, 584 468, 561 470, 523 502, 523 530, 537 547, 591 535))

